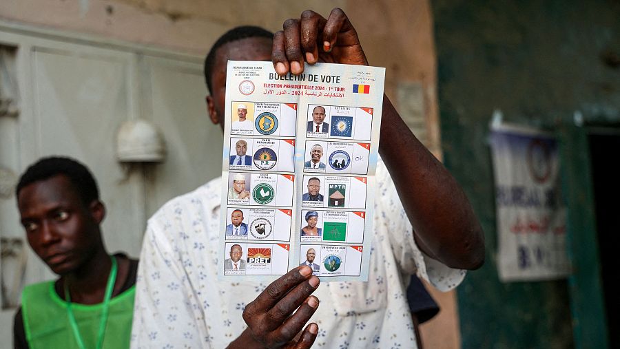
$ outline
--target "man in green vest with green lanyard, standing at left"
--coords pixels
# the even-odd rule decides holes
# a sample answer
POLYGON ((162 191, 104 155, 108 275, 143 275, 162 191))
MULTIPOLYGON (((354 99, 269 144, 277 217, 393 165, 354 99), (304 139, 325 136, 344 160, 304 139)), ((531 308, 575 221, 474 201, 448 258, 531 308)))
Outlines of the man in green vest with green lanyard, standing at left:
POLYGON ((129 348, 138 261, 105 250, 105 207, 90 171, 43 158, 16 194, 28 243, 60 277, 23 290, 15 348, 129 348))

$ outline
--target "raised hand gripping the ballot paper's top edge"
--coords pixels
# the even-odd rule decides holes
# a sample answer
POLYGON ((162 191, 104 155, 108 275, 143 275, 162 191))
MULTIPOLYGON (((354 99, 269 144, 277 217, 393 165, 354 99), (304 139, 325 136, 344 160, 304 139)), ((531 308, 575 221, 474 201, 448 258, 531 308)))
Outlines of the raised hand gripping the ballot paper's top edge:
POLYGON ((271 60, 280 75, 301 74, 305 61, 368 65, 358 33, 340 8, 328 19, 306 10, 299 19, 287 19, 284 30, 273 35, 271 60))

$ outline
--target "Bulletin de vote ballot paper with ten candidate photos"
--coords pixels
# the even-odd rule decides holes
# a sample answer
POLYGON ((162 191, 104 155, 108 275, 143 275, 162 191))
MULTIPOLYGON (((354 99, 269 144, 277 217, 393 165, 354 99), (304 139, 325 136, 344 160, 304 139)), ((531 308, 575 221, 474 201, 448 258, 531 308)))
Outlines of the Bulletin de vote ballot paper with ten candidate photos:
POLYGON ((385 70, 229 61, 218 278, 367 281, 385 70))

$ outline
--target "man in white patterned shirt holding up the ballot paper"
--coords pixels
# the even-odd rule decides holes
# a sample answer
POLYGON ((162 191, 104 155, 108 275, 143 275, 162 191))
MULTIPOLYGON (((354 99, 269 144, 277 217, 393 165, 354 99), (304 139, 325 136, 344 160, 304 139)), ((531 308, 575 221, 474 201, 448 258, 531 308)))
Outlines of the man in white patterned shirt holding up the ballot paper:
MULTIPOLYGON (((304 11, 299 19, 287 19, 283 28, 273 36, 256 27, 235 28, 209 52, 205 61, 209 117, 223 130, 229 60, 272 61, 275 72, 290 76, 293 81, 287 83, 291 84, 307 65, 318 62, 368 65, 353 25, 338 8, 327 19, 304 11)), ((366 93, 364 88, 358 86, 356 93, 366 93)), ((242 85, 239 89, 245 94, 254 87, 242 85)), ((322 105, 329 107, 329 103, 322 105)), ((267 134, 276 120, 269 113, 254 114, 256 130, 267 134)), ((347 137, 347 116, 339 114, 338 120, 332 120, 333 115, 329 112, 326 116, 331 123, 329 135, 347 137), (335 134, 332 128, 337 124, 342 127, 335 134)), ((302 122, 300 128, 306 131, 307 121, 302 122)), ((331 143, 324 142, 327 147, 331 143)), ((339 173, 351 173, 344 171, 351 171, 355 158, 347 158, 346 151, 325 151, 326 156, 327 152, 333 156, 326 176, 321 176, 326 197, 346 193, 349 198, 351 184, 333 183, 340 179, 339 173), (331 167, 332 162, 338 162, 338 167, 331 167)), ((224 234, 220 215, 227 212, 220 207, 221 195, 229 184, 227 178, 216 178, 171 200, 149 220, 136 286, 132 348, 310 348, 313 343, 324 348, 415 348, 402 278, 417 274, 440 290, 454 288, 465 275, 462 269, 482 266, 484 237, 462 189, 409 131, 386 96, 379 153, 378 188, 368 193, 374 197, 373 215, 369 215, 373 229, 364 233, 372 240, 368 282, 319 286, 313 268, 307 265, 293 268, 271 284, 246 279, 218 282, 218 258, 223 253, 218 239, 224 234)), ((228 166, 229 159, 223 160, 228 166)), ((252 186, 247 184, 244 190, 252 192, 252 186)), ((268 208, 249 215, 271 212, 268 208)), ((324 217, 341 211, 324 211, 324 217)), ((263 231, 269 226, 265 225, 267 218, 267 213, 256 218, 262 220, 263 231)), ((256 224, 248 221, 248 225, 253 229, 256 224)), ((332 230, 331 236, 340 236, 333 223, 332 230)), ((269 251, 259 251, 249 242, 234 243, 247 256, 246 273, 250 260, 265 264, 273 258, 269 251)), ((338 271, 342 261, 322 252, 321 244, 317 243, 313 263, 320 266, 321 273, 338 271)), ((302 251, 302 262, 307 251, 302 251)))

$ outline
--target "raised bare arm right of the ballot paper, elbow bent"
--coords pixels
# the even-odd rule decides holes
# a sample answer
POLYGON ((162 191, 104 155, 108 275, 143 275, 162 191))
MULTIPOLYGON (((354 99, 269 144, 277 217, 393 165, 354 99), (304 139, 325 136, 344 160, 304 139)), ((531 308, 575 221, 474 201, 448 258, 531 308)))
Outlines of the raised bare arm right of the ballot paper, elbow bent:
POLYGON ((427 255, 453 268, 484 262, 484 235, 466 195, 384 95, 379 152, 427 255))

